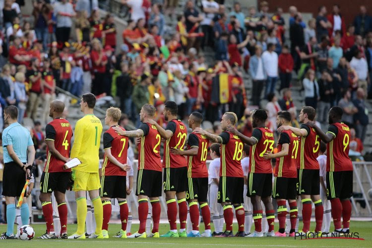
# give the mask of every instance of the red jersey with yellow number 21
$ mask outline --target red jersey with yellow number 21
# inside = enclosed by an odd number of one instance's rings
[[[283,144],[289,144],[288,155],[276,158],[274,176],[278,178],[297,178],[297,151],[299,149],[299,139],[291,130],[285,130],[280,134],[278,141],[278,152],[282,150]]]

